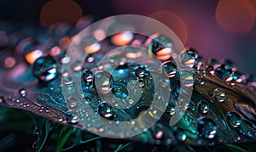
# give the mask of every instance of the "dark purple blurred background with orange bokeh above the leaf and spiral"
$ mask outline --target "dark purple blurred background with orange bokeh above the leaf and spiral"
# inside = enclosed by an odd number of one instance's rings
[[[256,75],[256,0],[0,2],[0,20],[47,26],[56,20],[73,23],[81,15],[88,14],[94,16],[95,20],[116,14],[153,17],[168,25],[185,46],[197,49],[203,57],[231,59],[241,72]]]

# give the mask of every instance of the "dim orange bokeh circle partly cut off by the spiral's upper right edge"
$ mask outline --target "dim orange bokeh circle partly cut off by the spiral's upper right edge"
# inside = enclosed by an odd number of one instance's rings
[[[155,12],[154,14],[150,14],[149,17],[153,18],[154,20],[159,20],[166,26],[168,26],[176,35],[177,37],[183,42],[183,44],[188,39],[188,30],[184,20],[170,11],[161,10]]]

